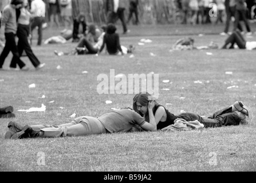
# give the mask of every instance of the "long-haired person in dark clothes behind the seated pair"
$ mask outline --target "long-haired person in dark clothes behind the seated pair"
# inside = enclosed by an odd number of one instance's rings
[[[80,13],[74,19],[73,23],[73,41],[72,42],[79,42],[82,36],[86,35],[87,24],[85,20],[85,14]]]

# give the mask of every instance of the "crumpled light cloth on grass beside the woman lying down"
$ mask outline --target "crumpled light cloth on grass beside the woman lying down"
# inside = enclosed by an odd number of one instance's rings
[[[201,124],[198,120],[195,121],[186,121],[183,119],[176,119],[173,125],[169,125],[166,128],[163,128],[164,132],[174,132],[174,131],[187,131],[192,129],[202,129],[204,125]]]

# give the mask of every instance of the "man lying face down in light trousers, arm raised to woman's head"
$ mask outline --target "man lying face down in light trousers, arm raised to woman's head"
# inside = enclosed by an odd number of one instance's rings
[[[156,122],[153,116],[153,102],[148,103],[149,122],[145,121],[132,109],[120,109],[105,113],[100,117],[81,116],[63,125],[21,126],[14,121],[9,122],[9,131],[5,138],[36,138],[86,136],[89,134],[133,132],[133,128],[155,131]]]

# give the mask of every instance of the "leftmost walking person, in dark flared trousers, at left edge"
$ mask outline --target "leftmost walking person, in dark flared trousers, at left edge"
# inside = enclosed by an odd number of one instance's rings
[[[26,67],[25,63],[19,58],[19,52],[15,42],[15,35],[17,33],[16,9],[19,9],[22,6],[22,3],[22,0],[11,0],[10,4],[3,9],[1,30],[3,29],[5,31],[6,43],[0,55],[0,70],[3,70],[3,63],[10,51],[13,53],[14,57],[14,61],[10,65],[10,69],[15,70],[17,63],[21,70],[29,70],[29,67]]]

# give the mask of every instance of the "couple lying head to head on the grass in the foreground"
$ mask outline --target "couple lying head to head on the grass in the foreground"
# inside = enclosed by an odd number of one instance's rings
[[[100,117],[81,116],[68,124],[21,126],[11,121],[5,138],[36,138],[86,136],[89,134],[156,131],[174,124],[176,119],[198,120],[205,128],[247,124],[249,112],[241,101],[219,110],[208,118],[194,113],[182,113],[178,116],[168,112],[164,106],[157,104],[148,93],[139,93],[133,98],[133,109],[125,108],[105,113]]]

